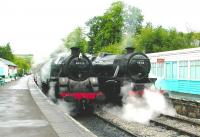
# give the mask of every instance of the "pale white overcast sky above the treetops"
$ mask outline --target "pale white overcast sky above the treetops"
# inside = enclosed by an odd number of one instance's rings
[[[14,53],[45,56],[77,26],[102,15],[116,0],[0,0],[0,45]],[[200,31],[200,0],[124,0],[144,22],[178,31]]]

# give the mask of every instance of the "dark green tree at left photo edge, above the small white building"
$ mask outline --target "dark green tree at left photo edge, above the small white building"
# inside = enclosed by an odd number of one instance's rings
[[[5,46],[0,46],[0,58],[13,61],[14,56],[10,48],[10,43],[7,43]]]

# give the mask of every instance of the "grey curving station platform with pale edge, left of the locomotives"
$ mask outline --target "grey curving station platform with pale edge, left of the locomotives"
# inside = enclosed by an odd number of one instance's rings
[[[26,76],[0,86],[0,137],[94,137]]]

